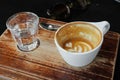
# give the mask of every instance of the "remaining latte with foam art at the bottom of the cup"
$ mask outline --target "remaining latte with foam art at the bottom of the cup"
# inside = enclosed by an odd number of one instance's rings
[[[94,47],[88,40],[78,38],[65,41],[63,48],[70,52],[87,52]]]

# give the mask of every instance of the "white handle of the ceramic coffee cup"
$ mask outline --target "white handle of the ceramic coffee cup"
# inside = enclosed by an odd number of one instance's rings
[[[93,22],[92,24],[97,26],[102,31],[103,35],[105,35],[110,29],[110,24],[108,21]]]

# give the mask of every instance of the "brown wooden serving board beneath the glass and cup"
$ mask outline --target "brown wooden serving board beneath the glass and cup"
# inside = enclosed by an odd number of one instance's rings
[[[65,22],[40,18],[40,21],[63,25]],[[0,36],[0,75],[10,80],[112,80],[117,57],[119,34],[109,31],[95,60],[84,67],[65,63],[54,44],[54,31],[39,29],[40,46],[31,52],[20,51],[6,30]]]

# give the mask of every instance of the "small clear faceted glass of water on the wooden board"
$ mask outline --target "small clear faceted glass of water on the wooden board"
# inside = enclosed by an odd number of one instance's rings
[[[32,51],[39,46],[38,24],[39,17],[32,12],[16,13],[6,22],[7,28],[21,51]]]

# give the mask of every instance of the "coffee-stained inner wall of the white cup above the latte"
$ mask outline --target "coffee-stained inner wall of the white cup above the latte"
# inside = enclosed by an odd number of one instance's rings
[[[55,35],[58,45],[62,48],[65,41],[73,38],[85,39],[95,48],[102,40],[102,33],[96,26],[87,22],[71,22],[59,28]]]

